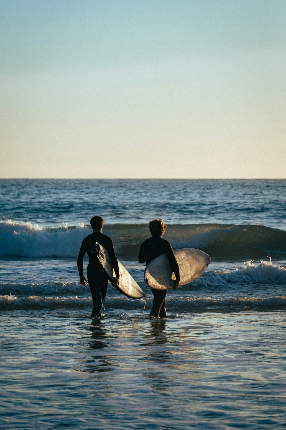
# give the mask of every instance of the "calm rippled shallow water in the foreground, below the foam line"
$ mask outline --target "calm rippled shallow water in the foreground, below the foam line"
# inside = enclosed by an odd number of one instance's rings
[[[2,314],[2,428],[284,427],[284,315]]]

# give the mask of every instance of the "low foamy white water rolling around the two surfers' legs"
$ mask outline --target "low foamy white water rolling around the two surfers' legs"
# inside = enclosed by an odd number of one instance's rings
[[[138,280],[138,283],[145,289],[143,281]],[[285,310],[285,284],[285,267],[271,261],[256,264],[246,261],[242,267],[225,272],[208,269],[192,283],[170,292],[166,300],[171,312]],[[152,302],[149,292],[147,308],[152,306]],[[140,312],[144,299],[126,298],[111,288],[105,303],[110,309]],[[0,283],[0,310],[86,308],[89,312],[91,306],[88,285],[63,282]]]

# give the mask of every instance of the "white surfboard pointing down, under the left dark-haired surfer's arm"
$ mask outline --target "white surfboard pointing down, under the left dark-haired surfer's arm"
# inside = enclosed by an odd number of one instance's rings
[[[95,253],[96,257],[99,260],[99,263],[102,266],[102,269],[108,276],[108,279],[111,283],[114,282],[115,273],[110,261],[109,253],[107,249],[103,248],[99,243],[95,244]],[[115,287],[120,293],[126,295],[131,298],[142,298],[145,296],[145,292],[141,290],[138,286],[137,282],[132,278],[130,273],[125,269],[125,267],[118,261],[119,268],[119,282],[118,286]]]

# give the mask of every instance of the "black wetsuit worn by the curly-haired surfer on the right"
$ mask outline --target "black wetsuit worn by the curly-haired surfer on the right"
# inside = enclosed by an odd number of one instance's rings
[[[179,281],[179,266],[174,255],[172,245],[170,242],[168,242],[168,240],[162,239],[162,237],[158,236],[149,237],[149,239],[146,239],[141,245],[138,260],[139,263],[146,262],[147,265],[150,263],[150,261],[154,260],[154,258],[157,258],[162,254],[167,254],[172,270],[176,276],[177,281]],[[165,298],[168,290],[155,290],[154,288],[151,288],[151,291],[154,295],[154,300],[150,316],[167,316]]]

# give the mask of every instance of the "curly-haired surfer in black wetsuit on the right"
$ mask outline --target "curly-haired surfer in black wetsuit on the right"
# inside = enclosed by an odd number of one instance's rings
[[[163,223],[163,220],[161,218],[155,218],[154,220],[149,222],[148,227],[151,233],[151,237],[146,239],[140,247],[138,257],[139,263],[146,263],[147,265],[150,263],[150,261],[154,260],[154,258],[159,257],[159,255],[167,254],[172,270],[176,276],[174,289],[177,289],[180,285],[179,266],[174,255],[171,243],[168,242],[168,240],[162,239],[162,236],[165,233],[167,226]],[[154,299],[150,316],[160,316],[160,318],[167,316],[166,295],[168,290],[157,290],[151,288],[151,291],[154,295]]]

